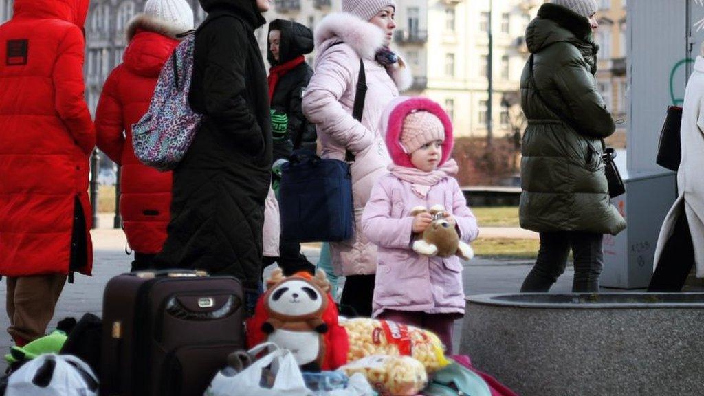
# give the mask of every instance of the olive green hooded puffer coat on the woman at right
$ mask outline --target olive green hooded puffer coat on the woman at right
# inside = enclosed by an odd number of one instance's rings
[[[610,203],[601,160],[602,139],[615,125],[596,89],[598,46],[589,20],[543,4],[526,30],[526,43],[534,54],[535,83],[549,107],[536,94],[527,63],[521,78],[521,106],[529,120],[522,146],[521,227],[616,235],[626,221]]]

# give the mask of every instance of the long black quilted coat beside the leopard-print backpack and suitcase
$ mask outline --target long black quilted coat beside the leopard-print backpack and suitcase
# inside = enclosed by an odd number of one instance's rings
[[[266,72],[254,30],[255,0],[200,0],[189,101],[204,115],[173,173],[168,239],[160,267],[232,275],[245,287],[261,276],[264,202],[272,137]]]

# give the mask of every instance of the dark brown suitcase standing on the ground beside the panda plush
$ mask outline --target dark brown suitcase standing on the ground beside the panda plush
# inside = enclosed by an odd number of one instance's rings
[[[100,394],[203,395],[244,347],[239,280],[188,270],[116,276],[103,295]]]

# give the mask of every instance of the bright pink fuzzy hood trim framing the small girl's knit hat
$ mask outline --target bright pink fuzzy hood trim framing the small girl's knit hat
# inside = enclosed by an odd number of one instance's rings
[[[397,97],[384,109],[379,126],[386,132],[386,148],[389,149],[389,155],[396,165],[414,168],[413,163],[410,162],[410,153],[406,153],[401,146],[401,132],[403,132],[403,120],[415,111],[432,113],[440,118],[445,128],[442,158],[438,163],[438,167],[442,166],[450,159],[455,144],[452,121],[439,104],[425,97]]]

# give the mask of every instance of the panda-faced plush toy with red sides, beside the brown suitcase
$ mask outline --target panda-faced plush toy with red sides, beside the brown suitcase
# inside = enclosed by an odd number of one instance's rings
[[[347,333],[339,326],[329,289],[323,271],[315,277],[301,272],[284,278],[280,269],[275,270],[255,315],[247,322],[250,347],[274,342],[289,349],[303,371],[332,370],[345,364]]]

